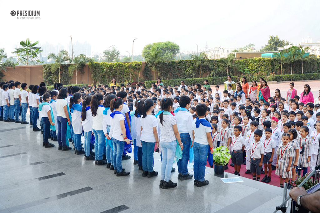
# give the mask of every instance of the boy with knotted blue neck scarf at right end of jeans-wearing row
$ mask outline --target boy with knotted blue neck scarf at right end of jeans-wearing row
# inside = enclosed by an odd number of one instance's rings
[[[205,104],[199,104],[196,107],[196,114],[198,116],[192,122],[192,134],[193,134],[193,150],[194,150],[194,185],[197,187],[206,186],[209,184],[208,180],[204,179],[205,165],[207,164],[207,155],[201,153],[213,153],[213,144],[211,136],[211,125],[204,117],[207,111]]]

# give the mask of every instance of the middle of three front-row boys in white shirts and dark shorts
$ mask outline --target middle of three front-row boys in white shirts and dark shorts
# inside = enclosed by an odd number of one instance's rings
[[[262,136],[261,130],[254,131],[254,142],[251,142],[249,146],[250,150],[250,172],[252,172],[253,180],[260,181],[263,155],[264,155],[264,146],[260,141]]]

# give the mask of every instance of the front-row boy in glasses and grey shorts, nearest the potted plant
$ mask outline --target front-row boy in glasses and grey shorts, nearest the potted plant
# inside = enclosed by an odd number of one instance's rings
[[[235,166],[233,174],[240,176],[241,164],[243,164],[244,138],[241,136],[242,127],[234,127],[234,135],[231,138],[231,162]]]

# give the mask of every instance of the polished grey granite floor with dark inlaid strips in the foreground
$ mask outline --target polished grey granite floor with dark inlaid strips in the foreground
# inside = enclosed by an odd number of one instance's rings
[[[282,202],[279,187],[243,177],[243,182],[225,184],[211,168],[206,168],[208,186],[196,187],[193,179],[180,181],[176,171],[171,180],[178,186],[161,189],[160,176],[141,177],[133,159],[122,162],[131,174],[116,177],[74,151],[58,151],[55,144],[44,148],[42,135],[29,125],[0,122],[0,213],[269,213]],[[154,157],[160,174],[159,153]],[[177,164],[174,167],[177,170]]]

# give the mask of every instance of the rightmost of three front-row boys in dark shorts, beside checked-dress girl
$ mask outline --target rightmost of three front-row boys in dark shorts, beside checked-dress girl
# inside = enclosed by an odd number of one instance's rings
[[[264,130],[264,134],[265,138],[262,140],[262,143],[264,146],[263,164],[265,175],[261,182],[269,183],[271,181],[271,163],[275,152],[276,143],[271,137],[272,130],[270,128],[266,128]]]

